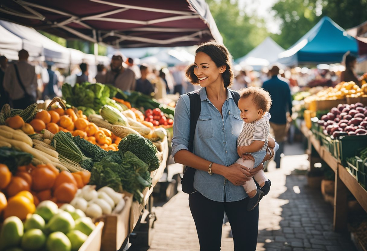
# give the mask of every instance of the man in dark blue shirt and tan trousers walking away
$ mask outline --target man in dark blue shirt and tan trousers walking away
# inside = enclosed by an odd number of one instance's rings
[[[284,152],[284,140],[288,132],[289,123],[287,122],[291,122],[292,97],[288,83],[278,77],[279,67],[274,65],[269,70],[269,74],[270,79],[264,82],[262,88],[268,91],[272,98],[273,105],[269,110],[270,134],[279,143],[279,150],[275,154],[274,161],[276,168],[280,168],[280,155]],[[288,117],[287,111],[290,114]]]

